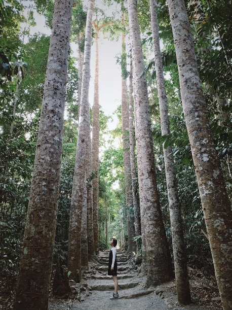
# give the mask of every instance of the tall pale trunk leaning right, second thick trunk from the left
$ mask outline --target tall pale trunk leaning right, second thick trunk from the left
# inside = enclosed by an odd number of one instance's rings
[[[94,0],[89,0],[86,20],[85,51],[83,62],[81,109],[79,118],[79,133],[76,146],[75,168],[72,184],[70,220],[68,231],[68,271],[70,278],[81,281],[81,223],[82,209],[85,200],[87,169],[89,169],[90,152],[90,55],[92,41],[92,18]]]

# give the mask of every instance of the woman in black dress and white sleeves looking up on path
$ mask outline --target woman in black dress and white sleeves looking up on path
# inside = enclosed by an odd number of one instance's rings
[[[109,299],[117,299],[119,298],[118,293],[118,278],[117,278],[117,253],[116,253],[116,246],[118,240],[112,238],[110,240],[111,250],[109,252],[109,264],[108,264],[108,275],[112,275],[113,282],[114,282],[114,292]]]

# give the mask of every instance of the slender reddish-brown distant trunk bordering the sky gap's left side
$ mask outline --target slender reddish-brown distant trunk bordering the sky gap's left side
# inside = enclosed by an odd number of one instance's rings
[[[99,166],[99,51],[98,51],[98,28],[95,27],[96,60],[94,79],[94,103],[93,103],[93,128],[92,128],[92,169],[96,174],[93,179],[93,234],[94,250],[99,254],[99,226],[98,226],[98,166]]]

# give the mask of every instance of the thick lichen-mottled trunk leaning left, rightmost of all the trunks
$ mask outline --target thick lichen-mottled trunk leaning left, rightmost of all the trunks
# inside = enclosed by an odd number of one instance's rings
[[[183,112],[223,309],[232,308],[232,213],[205,109],[184,0],[168,0]]]

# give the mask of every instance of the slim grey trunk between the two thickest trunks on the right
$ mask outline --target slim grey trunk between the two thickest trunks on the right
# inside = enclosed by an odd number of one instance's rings
[[[157,2],[150,0],[151,29],[154,48],[154,62],[156,65],[157,88],[160,105],[161,132],[162,135],[170,134],[168,115],[168,102],[165,90],[163,61],[160,50],[159,26],[157,20]],[[172,231],[172,246],[175,265],[176,289],[179,304],[191,302],[188,282],[187,258],[185,254],[181,210],[176,183],[175,163],[172,156],[172,147],[166,149],[163,145],[165,174],[168,190],[169,212]]]

